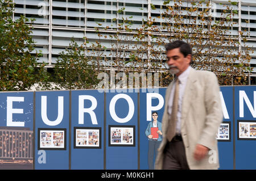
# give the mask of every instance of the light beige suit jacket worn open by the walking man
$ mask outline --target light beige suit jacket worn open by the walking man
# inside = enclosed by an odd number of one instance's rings
[[[171,82],[166,90],[164,115],[162,119],[163,140],[158,149],[155,169],[162,169],[163,150],[167,143],[167,104],[171,94]],[[214,73],[191,69],[185,87],[181,110],[181,136],[189,169],[218,169],[217,129],[223,119],[220,87]],[[210,149],[207,156],[196,161],[193,158],[196,144]]]

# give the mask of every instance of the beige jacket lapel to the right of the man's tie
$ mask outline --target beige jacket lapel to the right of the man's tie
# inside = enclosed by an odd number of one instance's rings
[[[195,69],[191,69],[188,75],[187,83],[184,90],[183,100],[182,100],[182,109],[181,109],[181,128],[184,126],[185,119],[188,114],[188,110],[191,104],[191,97],[194,94],[194,83],[196,82],[195,79]]]

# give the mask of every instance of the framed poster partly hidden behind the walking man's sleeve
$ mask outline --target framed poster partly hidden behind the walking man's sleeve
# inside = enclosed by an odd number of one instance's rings
[[[229,121],[223,121],[218,127],[216,139],[218,141],[231,141],[231,124]]]

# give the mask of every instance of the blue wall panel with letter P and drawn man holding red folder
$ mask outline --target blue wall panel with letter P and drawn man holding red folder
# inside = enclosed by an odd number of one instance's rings
[[[157,90],[157,91],[156,91]],[[140,169],[154,169],[162,142],[162,116],[166,88],[140,92]]]

